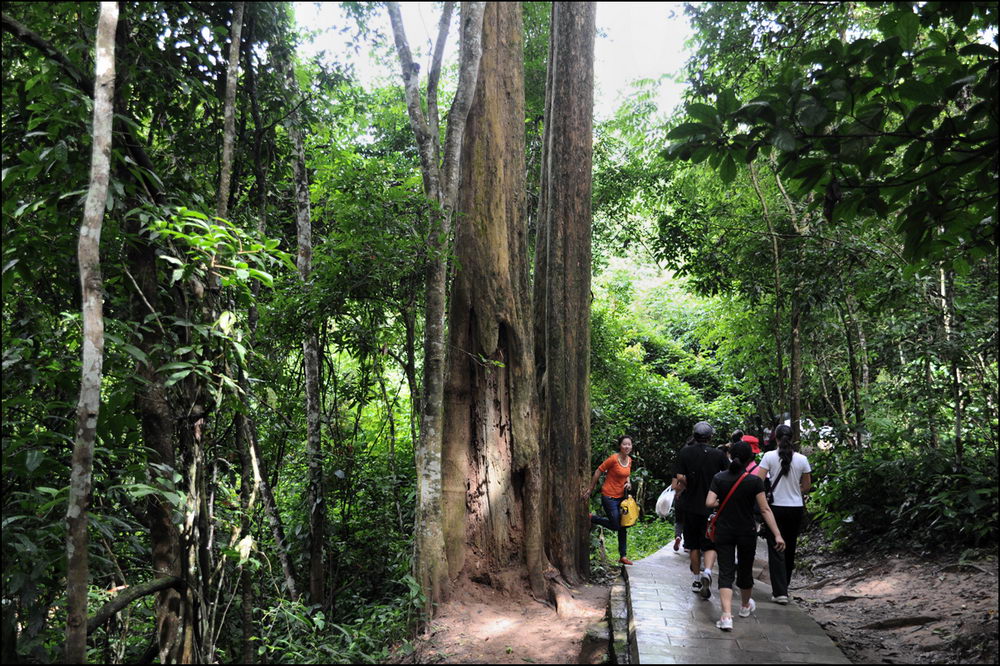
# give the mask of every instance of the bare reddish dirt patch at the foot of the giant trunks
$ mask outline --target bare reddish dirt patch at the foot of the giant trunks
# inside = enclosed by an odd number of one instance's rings
[[[525,586],[526,590],[526,586]],[[579,664],[592,663],[593,644],[584,645],[587,627],[607,610],[609,586],[577,586],[562,616],[525,594],[505,594],[467,582],[438,609],[430,635],[412,642],[413,652],[397,652],[394,663]],[[460,600],[459,600],[460,599]],[[405,650],[404,650],[405,651]]]

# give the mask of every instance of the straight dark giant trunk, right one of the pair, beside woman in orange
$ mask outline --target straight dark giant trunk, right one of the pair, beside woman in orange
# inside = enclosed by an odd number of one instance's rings
[[[549,560],[577,582],[589,570],[587,512],[571,506],[590,466],[594,3],[553,3],[551,26],[534,303],[542,352],[543,531]]]

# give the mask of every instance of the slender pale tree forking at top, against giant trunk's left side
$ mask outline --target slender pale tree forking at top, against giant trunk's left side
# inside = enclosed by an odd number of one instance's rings
[[[437,86],[441,57],[448,34],[454,3],[447,2],[438,29],[434,60],[427,81],[427,114],[420,101],[419,65],[413,61],[403,30],[399,4],[388,4],[396,51],[402,67],[406,108],[410,127],[420,151],[424,193],[436,207],[431,214],[427,239],[424,323],[424,373],[421,396],[420,441],[415,447],[417,468],[417,512],[413,533],[414,575],[427,599],[428,610],[447,595],[448,563],[444,552],[441,504],[441,449],[444,419],[445,304],[447,296],[448,253],[451,240],[452,212],[458,191],[459,158],[465,123],[479,76],[482,56],[483,11],[485,3],[463,2],[459,33],[458,88],[448,113],[442,155],[438,141]],[[443,158],[443,159],[442,159]],[[429,614],[429,613],[428,613]]]

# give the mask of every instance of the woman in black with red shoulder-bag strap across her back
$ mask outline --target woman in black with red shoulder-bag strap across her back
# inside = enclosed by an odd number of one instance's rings
[[[754,506],[760,508],[764,522],[773,534],[775,548],[785,542],[774,520],[764,494],[764,481],[747,470],[753,451],[746,442],[737,441],[729,447],[733,460],[729,469],[719,472],[705,498],[705,506],[717,509],[715,550],[719,557],[719,605],[722,616],[715,623],[723,631],[733,629],[733,581],[740,588],[740,617],[749,617],[757,605],[753,592],[753,557],[757,549],[757,524]],[[726,498],[720,506],[721,498]]]

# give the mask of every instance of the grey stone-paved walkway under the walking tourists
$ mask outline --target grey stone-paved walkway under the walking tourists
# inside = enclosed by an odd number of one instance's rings
[[[758,541],[754,578],[766,567],[767,548]],[[849,664],[840,648],[793,601],[771,601],[771,587],[754,580],[757,611],[736,616],[739,591],[733,597],[733,630],[716,628],[719,619],[718,567],[712,597],[691,592],[688,555],[672,545],[625,567],[635,641],[640,664]]]

